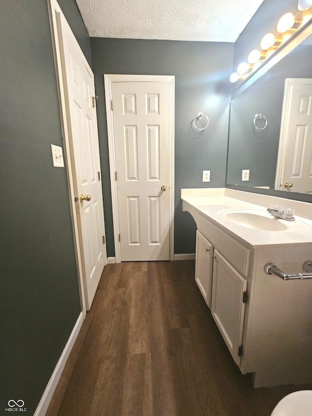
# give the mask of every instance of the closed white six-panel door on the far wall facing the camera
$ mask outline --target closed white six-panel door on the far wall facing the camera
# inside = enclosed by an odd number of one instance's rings
[[[168,260],[168,82],[113,82],[121,261]]]

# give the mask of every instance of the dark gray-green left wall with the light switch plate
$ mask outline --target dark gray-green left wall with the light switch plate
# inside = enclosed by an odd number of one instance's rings
[[[75,0],[60,6],[91,63]],[[32,415],[80,313],[46,0],[0,1],[1,389]]]

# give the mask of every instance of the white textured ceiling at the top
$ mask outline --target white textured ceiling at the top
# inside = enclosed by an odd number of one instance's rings
[[[76,0],[91,37],[235,42],[263,0]]]

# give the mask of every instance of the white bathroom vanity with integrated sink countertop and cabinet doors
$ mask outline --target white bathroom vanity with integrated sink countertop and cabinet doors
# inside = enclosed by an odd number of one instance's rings
[[[197,225],[196,283],[242,374],[254,387],[312,382],[312,205],[227,188],[181,199]],[[270,215],[276,205],[295,220]],[[268,263],[301,278],[268,275]]]

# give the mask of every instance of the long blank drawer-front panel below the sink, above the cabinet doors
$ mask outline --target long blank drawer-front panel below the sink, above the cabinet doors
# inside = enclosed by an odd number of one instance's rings
[[[240,273],[248,276],[250,260],[250,250],[248,248],[228,236],[201,215],[197,217],[197,228]]]

